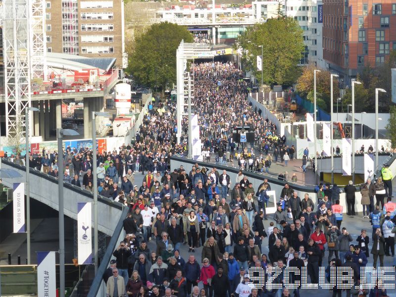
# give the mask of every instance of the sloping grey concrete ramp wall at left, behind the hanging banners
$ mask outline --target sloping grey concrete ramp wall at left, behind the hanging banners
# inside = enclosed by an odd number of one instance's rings
[[[20,183],[26,180],[25,167],[15,165],[8,161],[2,162],[2,169],[14,169],[22,178],[15,180],[2,179],[2,183],[12,189],[12,183]],[[26,189],[25,189],[26,191]],[[93,194],[71,184],[64,184],[64,214],[77,220],[77,202],[93,202]],[[37,170],[30,171],[30,197],[47,204],[55,210],[59,210],[58,183],[55,178]],[[121,217],[123,206],[112,199],[99,197],[98,217],[99,231],[109,236],[113,235],[114,229]]]

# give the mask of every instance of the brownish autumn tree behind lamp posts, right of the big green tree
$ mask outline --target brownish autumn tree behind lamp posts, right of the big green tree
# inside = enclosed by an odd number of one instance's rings
[[[314,101],[313,88],[314,78],[313,71],[317,69],[314,65],[308,65],[303,68],[301,76],[297,80],[297,92],[301,98],[306,98],[311,102]],[[325,111],[330,111],[330,75],[329,71],[321,70],[316,73],[316,104]],[[333,79],[333,104],[337,104],[340,90],[337,78]]]

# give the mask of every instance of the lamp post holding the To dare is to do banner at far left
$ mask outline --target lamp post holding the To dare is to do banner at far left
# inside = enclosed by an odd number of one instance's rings
[[[29,111],[40,111],[40,109],[36,107],[26,107],[25,109],[26,242],[27,242],[28,265],[30,265]]]

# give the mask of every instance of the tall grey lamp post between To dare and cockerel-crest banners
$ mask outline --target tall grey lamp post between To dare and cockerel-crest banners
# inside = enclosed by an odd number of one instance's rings
[[[58,197],[59,197],[59,295],[65,293],[65,222],[63,209],[63,135],[79,135],[71,129],[56,129],[58,142]]]

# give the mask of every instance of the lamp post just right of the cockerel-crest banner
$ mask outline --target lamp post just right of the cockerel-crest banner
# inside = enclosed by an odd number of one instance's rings
[[[98,175],[97,175],[97,150],[96,150],[96,117],[109,116],[108,112],[93,111],[92,112],[92,174],[94,184],[94,259],[95,274],[98,272]]]

